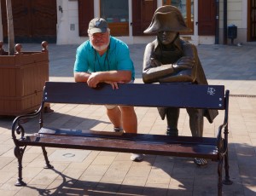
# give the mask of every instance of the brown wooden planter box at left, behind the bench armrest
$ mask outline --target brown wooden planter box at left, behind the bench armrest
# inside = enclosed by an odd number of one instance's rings
[[[49,81],[49,53],[0,55],[0,115],[18,116],[40,106]]]

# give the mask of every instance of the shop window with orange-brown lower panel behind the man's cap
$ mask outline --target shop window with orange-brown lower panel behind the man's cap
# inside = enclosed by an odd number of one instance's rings
[[[129,35],[128,0],[101,0],[101,17],[108,21],[111,35]]]

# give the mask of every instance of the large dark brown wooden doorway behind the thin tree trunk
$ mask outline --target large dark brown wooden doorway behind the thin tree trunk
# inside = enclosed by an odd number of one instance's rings
[[[3,42],[8,42],[5,0],[1,0]],[[56,43],[56,1],[12,0],[15,43]]]

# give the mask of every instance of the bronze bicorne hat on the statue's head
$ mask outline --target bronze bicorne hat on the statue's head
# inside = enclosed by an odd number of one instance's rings
[[[144,33],[156,32],[191,32],[184,20],[183,15],[172,5],[162,6],[154,12],[151,24]]]

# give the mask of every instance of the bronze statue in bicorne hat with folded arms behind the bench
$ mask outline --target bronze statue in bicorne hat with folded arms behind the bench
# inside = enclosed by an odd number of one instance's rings
[[[148,43],[143,59],[144,83],[207,84],[195,45],[183,41],[179,32],[189,32],[180,11],[171,5],[157,9],[144,33],[156,33],[157,38]],[[167,120],[167,135],[178,135],[179,108],[160,107],[160,117]],[[193,136],[203,135],[203,117],[212,123],[216,110],[187,108],[189,126]],[[195,159],[195,164],[207,164],[206,159]]]

